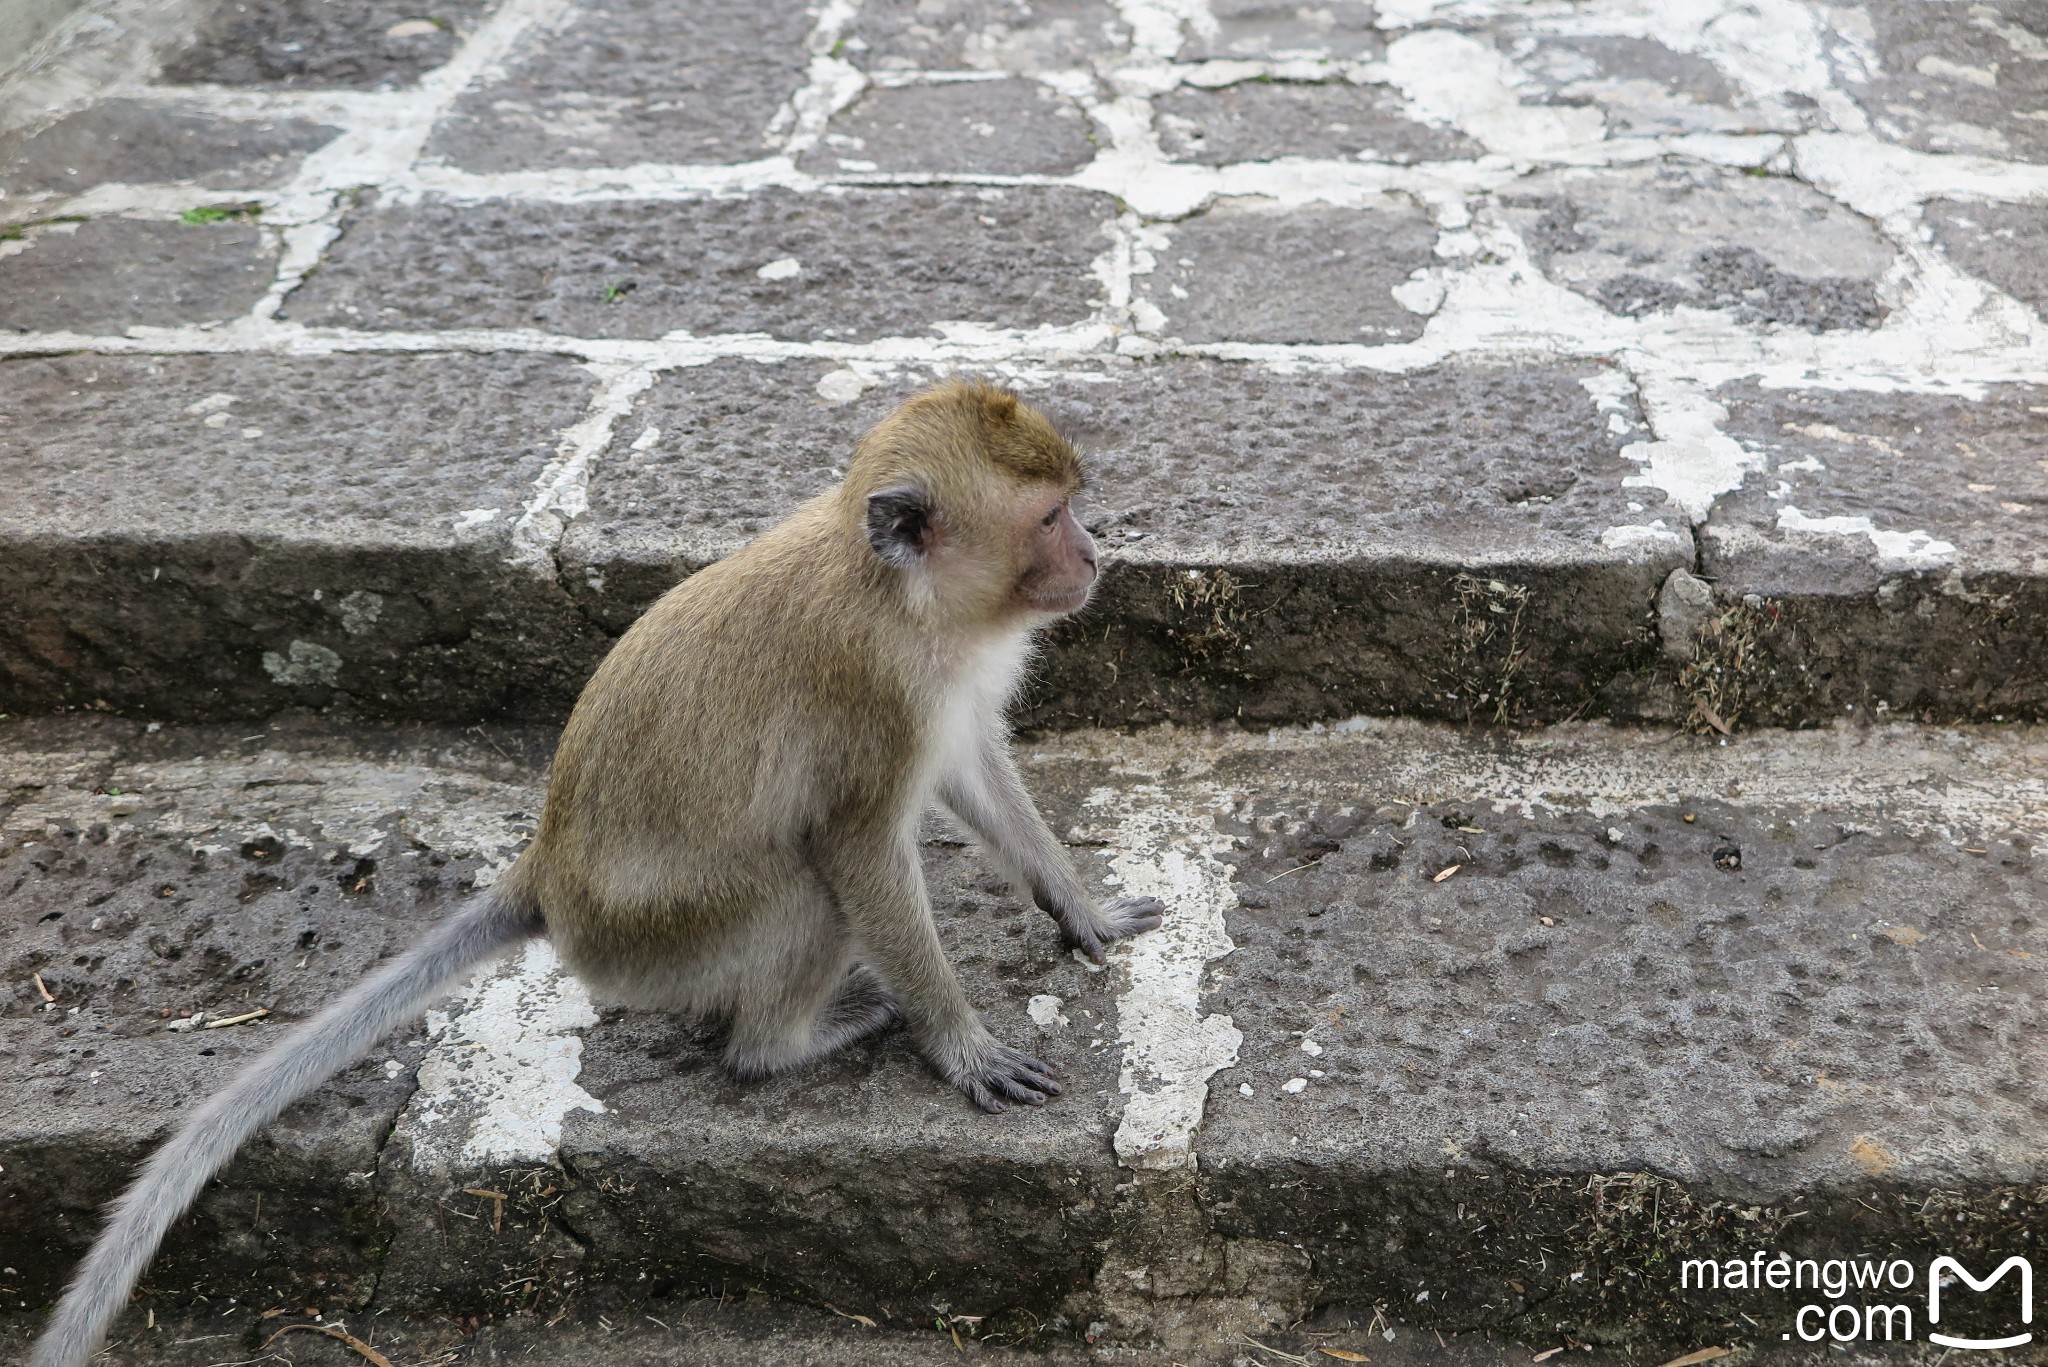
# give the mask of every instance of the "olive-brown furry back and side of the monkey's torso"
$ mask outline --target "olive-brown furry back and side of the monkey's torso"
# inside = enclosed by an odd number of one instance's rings
[[[870,557],[829,500],[670,588],[563,728],[541,830],[508,877],[594,986],[623,963],[702,957],[764,904],[815,894],[809,834],[911,781],[913,682],[877,674],[889,652],[862,633],[887,623],[850,611],[846,582]],[[821,730],[829,746],[807,740]]]

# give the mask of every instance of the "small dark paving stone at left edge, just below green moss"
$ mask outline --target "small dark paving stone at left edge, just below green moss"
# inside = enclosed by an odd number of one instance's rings
[[[270,287],[276,246],[254,223],[49,223],[0,256],[0,328],[109,332],[227,322]]]

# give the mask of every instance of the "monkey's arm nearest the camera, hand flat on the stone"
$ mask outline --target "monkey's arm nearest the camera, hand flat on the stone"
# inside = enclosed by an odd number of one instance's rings
[[[932,924],[915,836],[842,830],[817,851],[817,869],[946,1082],[983,1111],[1059,1096],[1053,1070],[999,1043],[969,1006]]]

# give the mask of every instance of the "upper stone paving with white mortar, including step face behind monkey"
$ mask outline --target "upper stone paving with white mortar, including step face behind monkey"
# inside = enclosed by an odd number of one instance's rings
[[[559,719],[961,369],[1040,726],[2048,709],[2025,0],[92,0],[0,187],[4,709]]]

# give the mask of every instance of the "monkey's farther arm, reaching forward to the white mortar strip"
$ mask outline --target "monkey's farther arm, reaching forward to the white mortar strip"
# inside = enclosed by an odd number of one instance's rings
[[[1102,963],[1106,945],[1151,930],[1163,918],[1165,908],[1157,898],[1116,898],[1096,906],[1081,887],[1059,836],[1024,791],[1024,779],[1004,736],[983,736],[969,762],[940,785],[938,799],[981,836],[999,863],[1008,865],[1012,881],[1030,892],[1032,902],[1059,922],[1067,945],[1096,963]]]

